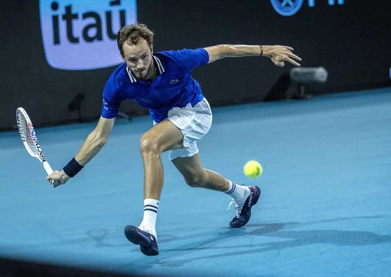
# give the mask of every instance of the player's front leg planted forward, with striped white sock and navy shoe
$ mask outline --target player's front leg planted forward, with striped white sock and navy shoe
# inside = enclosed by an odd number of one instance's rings
[[[164,120],[147,131],[140,141],[144,164],[144,217],[141,224],[125,226],[126,238],[140,245],[142,253],[158,255],[156,243],[156,216],[161,189],[163,187],[163,167],[160,155],[166,150],[182,146],[183,134],[171,121]]]

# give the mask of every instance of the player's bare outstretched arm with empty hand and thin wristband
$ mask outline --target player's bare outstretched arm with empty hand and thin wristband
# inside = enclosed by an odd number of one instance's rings
[[[269,57],[275,65],[284,66],[284,61],[300,66],[296,61],[302,59],[292,53],[294,50],[289,46],[281,45],[230,45],[220,44],[204,48],[209,54],[209,62],[214,62],[222,58],[235,58],[246,56]],[[296,59],[296,60],[295,60]]]

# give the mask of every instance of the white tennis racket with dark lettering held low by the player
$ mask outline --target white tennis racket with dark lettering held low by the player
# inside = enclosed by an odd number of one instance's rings
[[[42,148],[38,142],[38,137],[34,126],[32,126],[30,118],[28,117],[26,111],[21,107],[16,109],[16,123],[18,124],[20,137],[22,138],[23,144],[26,147],[28,154],[39,159],[44,166],[46,173],[50,175],[53,172],[53,169],[50,167],[50,164],[42,152]],[[59,182],[54,181],[52,182],[52,185],[58,186]]]

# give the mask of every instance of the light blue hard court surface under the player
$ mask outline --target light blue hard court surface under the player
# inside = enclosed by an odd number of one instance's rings
[[[262,189],[245,227],[229,228],[230,197],[186,186],[164,153],[160,254],[126,240],[124,226],[143,216],[149,116],[118,119],[104,149],[56,189],[10,131],[0,133],[0,256],[148,276],[391,276],[391,88],[213,112],[204,167]],[[37,128],[53,169],[95,124]],[[250,159],[264,167],[257,179],[243,174]]]

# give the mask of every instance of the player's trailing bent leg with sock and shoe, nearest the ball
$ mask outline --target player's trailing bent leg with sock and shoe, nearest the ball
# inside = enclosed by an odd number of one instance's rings
[[[256,204],[260,196],[258,187],[240,186],[215,171],[204,169],[199,154],[191,157],[178,157],[172,162],[189,186],[222,191],[232,197],[236,217],[230,222],[231,227],[238,228],[247,224],[251,217],[251,207]]]

